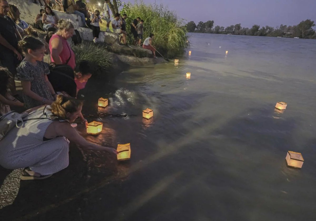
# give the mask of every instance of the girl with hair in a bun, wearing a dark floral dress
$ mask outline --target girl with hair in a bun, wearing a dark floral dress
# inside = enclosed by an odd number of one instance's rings
[[[57,94],[47,78],[50,73],[49,65],[43,62],[45,44],[40,39],[26,36],[19,42],[19,46],[25,53],[24,60],[17,68],[17,76],[23,87],[25,107],[51,105]]]

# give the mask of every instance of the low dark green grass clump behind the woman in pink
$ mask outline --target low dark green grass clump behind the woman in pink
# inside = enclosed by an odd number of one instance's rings
[[[72,50],[75,52],[76,62],[89,61],[95,74],[100,74],[112,66],[112,57],[103,45],[93,42],[82,42],[80,45],[73,45]]]

